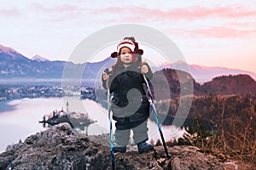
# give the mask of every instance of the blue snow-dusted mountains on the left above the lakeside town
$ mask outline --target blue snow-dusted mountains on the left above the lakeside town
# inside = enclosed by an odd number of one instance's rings
[[[86,71],[84,65],[86,64]],[[50,61],[36,55],[32,59],[26,58],[13,48],[0,45],[0,78],[40,78],[61,79],[66,68],[69,75],[77,75],[78,71],[84,70],[85,78],[94,78],[95,72],[99,71],[101,63],[74,64],[61,60]],[[92,74],[89,74],[92,73]]]

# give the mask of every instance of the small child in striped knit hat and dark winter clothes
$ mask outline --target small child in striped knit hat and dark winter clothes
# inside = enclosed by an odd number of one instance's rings
[[[149,102],[143,90],[143,75],[149,80],[153,73],[148,64],[141,61],[142,54],[143,50],[138,48],[134,37],[125,37],[117,46],[117,52],[111,55],[118,58],[112,71],[102,75],[103,87],[106,88],[109,83],[110,93],[113,94],[111,109],[113,120],[116,121],[115,152],[126,151],[131,129],[139,153],[154,149],[151,144],[146,143]]]

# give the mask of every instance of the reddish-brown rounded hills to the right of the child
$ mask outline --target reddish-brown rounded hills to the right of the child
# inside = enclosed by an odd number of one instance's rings
[[[154,86],[155,99],[177,99],[180,93],[193,93],[195,96],[209,95],[242,95],[256,92],[256,82],[249,75],[229,75],[214,77],[212,81],[202,85],[195,82],[195,79],[185,71],[174,69],[163,69],[155,71],[154,77],[150,80]],[[191,87],[193,85],[193,87]],[[169,88],[169,89],[168,89]],[[193,88],[193,92],[188,90]]]

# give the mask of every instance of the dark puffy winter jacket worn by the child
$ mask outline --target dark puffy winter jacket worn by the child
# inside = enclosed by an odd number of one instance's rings
[[[146,63],[144,65],[148,66]],[[153,77],[149,66],[145,77],[148,80]],[[126,68],[123,65],[116,65],[111,71],[109,83],[110,93],[113,94],[113,120],[125,122],[128,118],[130,122],[144,122],[148,119],[149,102],[143,90],[145,81],[138,65]],[[106,88],[106,81],[102,80],[102,85]],[[128,92],[130,95],[127,97]]]

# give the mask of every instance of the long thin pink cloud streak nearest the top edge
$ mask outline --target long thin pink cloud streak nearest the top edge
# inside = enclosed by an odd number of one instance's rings
[[[142,16],[143,20],[195,20],[205,19],[208,17],[221,18],[242,18],[255,16],[256,11],[245,7],[190,7],[190,8],[173,8],[170,10],[161,10],[157,8],[144,8],[131,6],[127,8],[103,8],[102,13],[119,14],[120,16],[130,15]],[[98,11],[98,12],[100,12]]]

